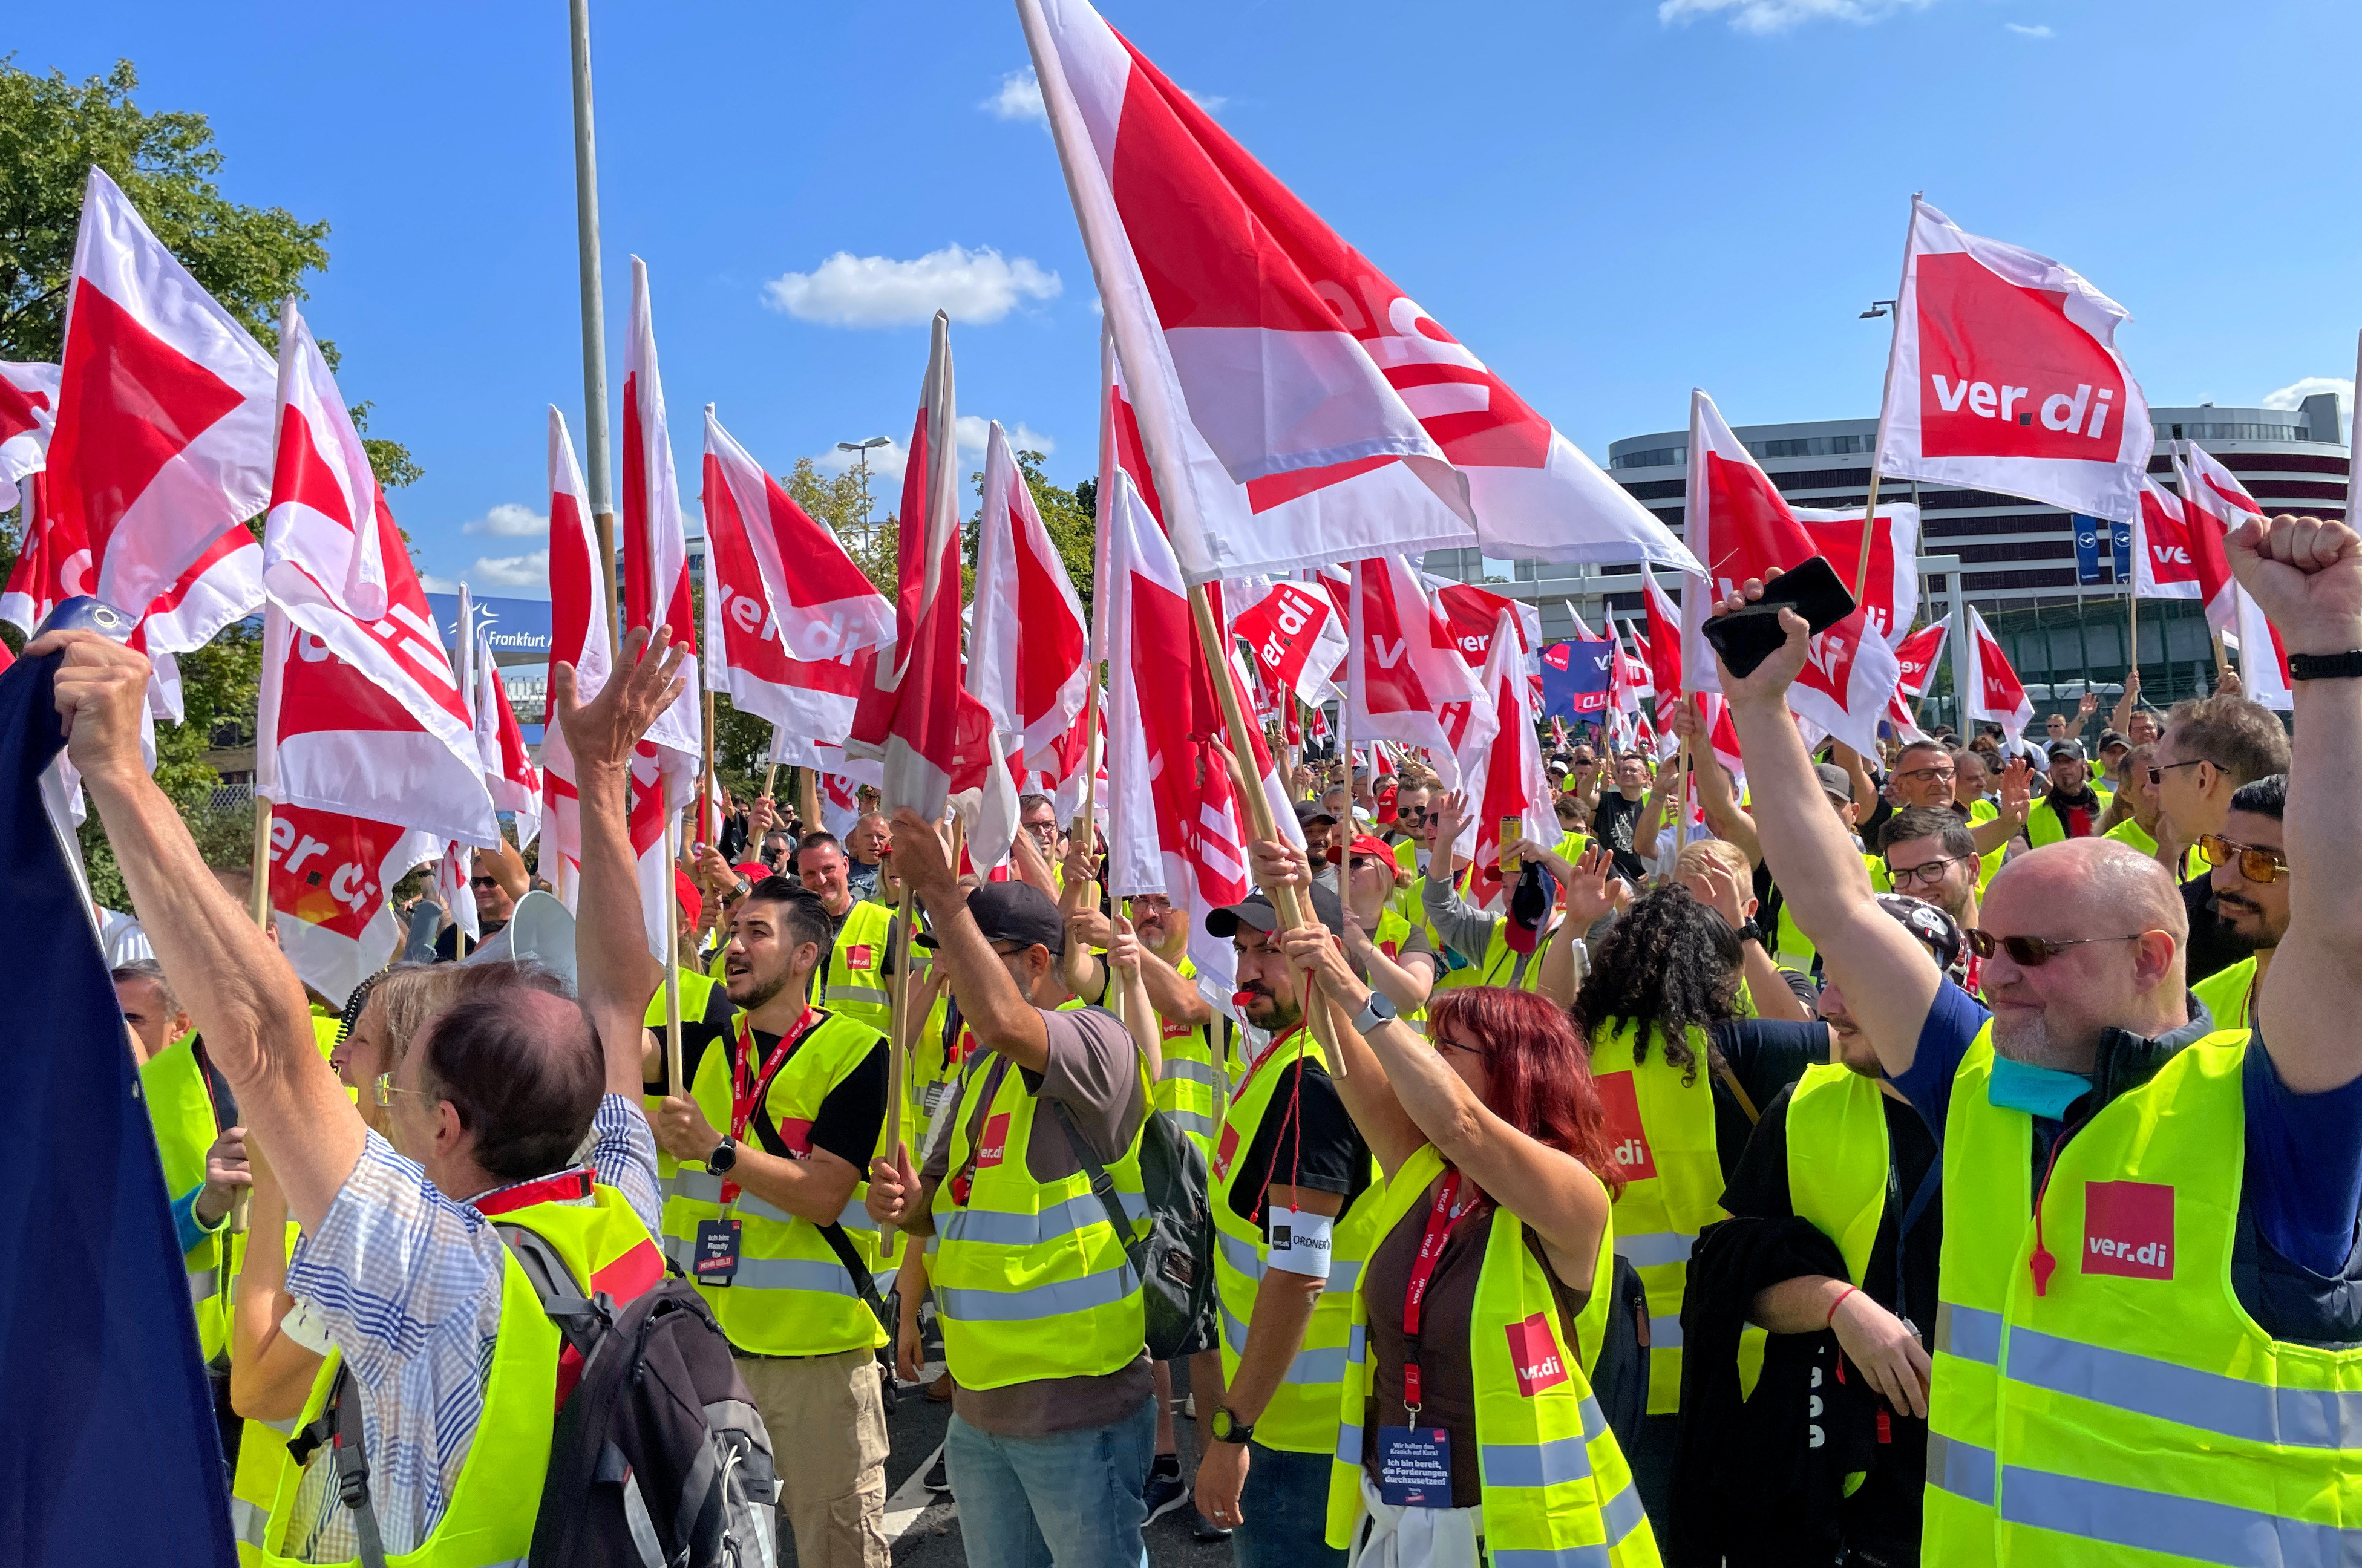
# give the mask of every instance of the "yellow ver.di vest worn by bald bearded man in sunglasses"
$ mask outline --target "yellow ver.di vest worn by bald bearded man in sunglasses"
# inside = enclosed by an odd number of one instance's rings
[[[2031,1117],[1986,1096],[1991,1025],[1960,1063],[1927,1563],[2353,1561],[2362,1351],[2270,1339],[2232,1294],[2246,1051],[2206,1034],[2105,1105],[2038,1211]]]

